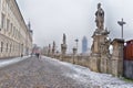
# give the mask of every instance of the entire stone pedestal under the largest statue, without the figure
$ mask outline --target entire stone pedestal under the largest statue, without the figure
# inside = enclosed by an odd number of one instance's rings
[[[92,44],[92,54],[91,54],[91,62],[94,64],[96,68],[93,67],[92,69],[106,73],[108,70],[108,59],[109,59],[109,46],[110,41],[108,40],[108,32],[106,30],[95,30],[93,34],[93,44]]]

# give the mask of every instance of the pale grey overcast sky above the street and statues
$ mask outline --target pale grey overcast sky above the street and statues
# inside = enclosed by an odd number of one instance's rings
[[[55,41],[58,48],[66,34],[69,51],[75,45],[74,40],[81,41],[85,35],[91,47],[91,35],[95,30],[96,4],[102,3],[105,12],[105,26],[111,31],[110,37],[121,37],[117,21],[122,18],[124,38],[133,36],[133,0],[17,0],[25,22],[31,21],[33,42],[47,46]]]

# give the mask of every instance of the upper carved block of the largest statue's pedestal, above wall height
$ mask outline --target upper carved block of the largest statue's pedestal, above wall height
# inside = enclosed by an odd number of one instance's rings
[[[109,42],[109,34],[110,32],[108,30],[95,30],[94,34],[92,35],[93,44],[91,51],[93,54],[105,54],[108,52],[105,46]]]

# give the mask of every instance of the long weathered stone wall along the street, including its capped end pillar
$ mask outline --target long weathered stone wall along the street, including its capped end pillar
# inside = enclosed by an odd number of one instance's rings
[[[113,54],[91,54],[83,55],[54,55],[63,62],[89,67],[96,73],[112,74],[113,76],[123,76],[123,46],[124,40],[115,38],[111,43],[113,45]],[[126,63],[125,63],[126,64]]]

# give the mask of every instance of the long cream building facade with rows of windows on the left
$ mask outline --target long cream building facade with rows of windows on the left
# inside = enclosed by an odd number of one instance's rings
[[[0,0],[0,58],[28,55],[32,50],[31,30],[16,0]]]

